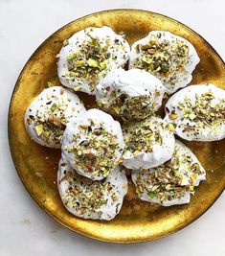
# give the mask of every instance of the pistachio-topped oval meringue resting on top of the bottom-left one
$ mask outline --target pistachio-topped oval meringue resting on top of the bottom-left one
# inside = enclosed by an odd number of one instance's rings
[[[62,152],[70,165],[91,179],[101,180],[120,163],[124,137],[119,122],[99,109],[89,109],[68,124]]]

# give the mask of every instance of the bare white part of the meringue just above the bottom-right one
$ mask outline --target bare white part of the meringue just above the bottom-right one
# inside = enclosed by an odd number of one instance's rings
[[[152,145],[152,151],[144,151],[143,149],[138,151],[137,153],[133,153],[127,148],[124,149],[124,167],[128,169],[140,169],[140,168],[152,168],[159,166],[166,161],[168,161],[173,153],[175,138],[173,132],[169,131],[167,128],[168,123],[162,120],[159,117],[150,117],[146,121],[139,122],[138,124],[129,125],[128,130],[131,132],[136,128],[142,128],[145,123],[148,122],[150,124],[150,130],[155,132],[159,132],[162,142],[159,143],[155,140],[155,137],[151,139],[150,142]],[[124,141],[126,142],[127,132],[125,132],[124,128]],[[142,138],[146,138],[146,135],[143,134]],[[142,139],[141,138],[141,139]],[[132,137],[131,137],[132,139]],[[130,140],[129,140],[130,141]]]

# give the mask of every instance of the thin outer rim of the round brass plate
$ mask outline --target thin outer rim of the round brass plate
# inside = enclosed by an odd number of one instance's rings
[[[184,23],[171,18],[165,14],[162,13],[158,13],[158,12],[150,12],[150,11],[146,11],[146,10],[142,10],[142,9],[112,9],[112,10],[105,10],[105,11],[101,11],[101,12],[92,12],[89,13],[87,15],[81,16],[75,20],[70,21],[69,23],[65,24],[64,26],[62,26],[61,28],[59,28],[58,30],[56,30],[52,35],[48,36],[35,50],[34,53],[31,55],[31,57],[26,61],[26,63],[24,64],[21,72],[19,73],[19,76],[17,78],[17,80],[15,81],[13,90],[11,92],[11,100],[10,100],[10,105],[9,105],[9,111],[8,111],[8,140],[9,140],[9,146],[10,146],[10,151],[11,151],[11,159],[14,165],[14,168],[16,170],[17,175],[20,178],[20,181],[22,182],[23,186],[25,187],[26,191],[29,193],[29,195],[34,199],[35,203],[37,203],[37,205],[48,215],[50,216],[53,220],[55,220],[56,222],[58,222],[59,224],[61,224],[62,226],[66,227],[67,229],[83,236],[89,239],[93,239],[95,241],[100,241],[103,243],[110,243],[110,244],[139,244],[139,243],[146,243],[146,242],[150,242],[150,241],[155,241],[155,240],[159,240],[165,237],[168,237],[169,235],[172,235],[182,229],[184,229],[186,226],[190,225],[191,223],[193,223],[194,221],[198,220],[202,215],[204,215],[214,204],[214,202],[221,196],[221,194],[223,193],[223,191],[225,190],[225,186],[223,186],[223,188],[221,189],[221,191],[218,193],[217,197],[214,198],[214,200],[211,201],[211,203],[208,205],[208,207],[198,216],[196,216],[195,218],[193,218],[191,221],[187,221],[186,223],[184,223],[183,225],[175,228],[172,231],[169,231],[167,234],[161,234],[158,235],[156,237],[151,237],[151,238],[146,238],[146,239],[138,239],[138,240],[110,240],[110,239],[101,239],[99,237],[96,237],[94,235],[91,235],[90,233],[86,233],[80,230],[75,230],[73,229],[71,226],[69,226],[66,222],[61,221],[56,215],[54,215],[50,210],[48,210],[46,207],[43,207],[40,203],[40,201],[38,200],[38,198],[35,198],[34,193],[31,191],[31,189],[29,188],[28,184],[26,183],[26,179],[22,177],[16,159],[15,159],[15,155],[14,155],[14,151],[12,150],[12,141],[11,141],[11,107],[12,107],[12,103],[13,103],[13,99],[14,99],[14,95],[18,89],[18,85],[19,85],[19,81],[21,81],[22,75],[24,73],[24,71],[26,70],[26,67],[29,65],[31,59],[35,56],[35,54],[39,51],[39,49],[41,49],[46,42],[49,41],[50,38],[52,38],[54,35],[56,35],[58,32],[60,32],[61,30],[63,30],[64,28],[68,27],[70,24],[79,22],[82,19],[88,18],[90,16],[93,15],[101,15],[103,13],[106,12],[140,12],[140,13],[146,13],[146,14],[153,14],[156,16],[161,16],[161,17],[165,17],[167,19],[169,19],[172,22],[175,22],[179,25],[182,25],[183,27],[185,27],[189,32],[191,32],[191,34],[197,35],[200,39],[202,39],[204,41],[204,43],[206,43],[208,46],[211,47],[211,49],[214,52],[214,55],[216,56],[216,58],[218,58],[218,60],[222,63],[223,66],[225,66],[225,61],[218,55],[218,53],[215,51],[214,47],[201,35],[199,35],[198,33],[196,33],[195,31],[193,31],[189,26],[185,25]]]

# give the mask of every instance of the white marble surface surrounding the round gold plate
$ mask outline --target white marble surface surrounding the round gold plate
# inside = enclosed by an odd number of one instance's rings
[[[105,244],[53,221],[30,198],[15,173],[7,115],[14,82],[26,60],[64,24],[90,12],[116,8],[169,15],[204,36],[225,59],[224,0],[0,0],[1,256],[225,255],[224,193],[199,220],[168,238],[145,244]]]

